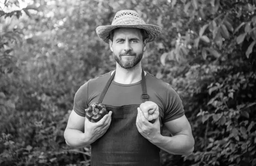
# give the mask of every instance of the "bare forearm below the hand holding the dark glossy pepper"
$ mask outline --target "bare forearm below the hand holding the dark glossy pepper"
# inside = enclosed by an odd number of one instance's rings
[[[86,133],[76,129],[66,129],[64,132],[64,138],[67,145],[73,148],[83,148],[95,141],[90,139]]]

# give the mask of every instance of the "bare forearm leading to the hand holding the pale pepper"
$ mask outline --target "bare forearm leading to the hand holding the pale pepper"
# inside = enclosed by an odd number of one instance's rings
[[[194,138],[187,135],[175,135],[167,137],[160,135],[154,142],[154,145],[173,155],[191,155],[194,151]]]

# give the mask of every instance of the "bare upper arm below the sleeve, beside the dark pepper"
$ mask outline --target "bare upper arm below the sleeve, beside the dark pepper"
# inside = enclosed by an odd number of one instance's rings
[[[67,129],[77,129],[84,132],[84,120],[85,117],[76,114],[76,112],[72,110],[67,121]]]

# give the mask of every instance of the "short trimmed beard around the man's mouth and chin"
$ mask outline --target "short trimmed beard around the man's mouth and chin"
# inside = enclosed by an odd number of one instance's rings
[[[123,61],[122,60],[122,55],[123,54],[119,54],[119,55],[116,55],[113,53],[113,57],[114,59],[116,60],[116,62],[124,69],[131,69],[133,68],[134,66],[136,66],[140,60],[142,60],[142,57],[143,57],[143,52],[140,53],[140,54],[134,54],[133,56],[135,56],[134,60],[131,60],[131,61]]]

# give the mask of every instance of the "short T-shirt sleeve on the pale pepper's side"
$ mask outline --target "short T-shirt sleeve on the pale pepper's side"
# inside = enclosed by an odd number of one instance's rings
[[[177,92],[170,86],[169,83],[166,85],[165,92],[165,112],[163,122],[175,120],[184,115],[184,108],[182,100]]]

